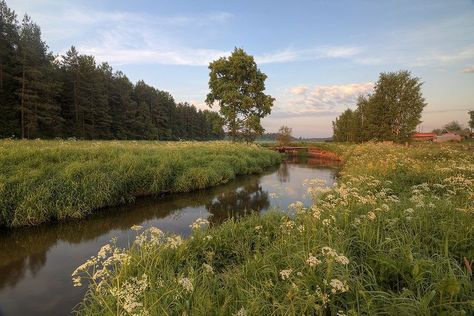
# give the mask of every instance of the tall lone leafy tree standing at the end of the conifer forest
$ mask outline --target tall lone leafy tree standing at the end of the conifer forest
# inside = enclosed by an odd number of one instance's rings
[[[254,58],[235,48],[229,57],[211,62],[209,69],[206,103],[219,105],[232,140],[253,141],[263,134],[260,120],[270,114],[274,98],[264,93],[267,76]]]

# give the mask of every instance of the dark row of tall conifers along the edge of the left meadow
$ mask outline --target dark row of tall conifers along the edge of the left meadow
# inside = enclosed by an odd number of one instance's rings
[[[210,140],[224,137],[218,113],[176,103],[130,82],[74,46],[55,56],[27,15],[0,0],[0,138]]]

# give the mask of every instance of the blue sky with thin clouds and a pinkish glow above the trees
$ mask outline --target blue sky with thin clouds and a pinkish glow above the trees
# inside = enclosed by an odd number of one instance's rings
[[[381,72],[424,82],[424,132],[474,110],[474,0],[7,0],[39,24],[55,54],[71,45],[208,108],[210,61],[253,55],[276,100],[263,120],[297,137],[328,137],[332,121],[370,93]]]

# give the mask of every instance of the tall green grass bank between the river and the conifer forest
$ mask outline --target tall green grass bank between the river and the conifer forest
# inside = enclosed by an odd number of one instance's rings
[[[202,189],[280,156],[228,142],[0,141],[0,226],[81,218],[139,195]]]

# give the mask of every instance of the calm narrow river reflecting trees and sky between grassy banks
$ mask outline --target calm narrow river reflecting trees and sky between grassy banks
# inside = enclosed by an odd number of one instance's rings
[[[251,210],[284,210],[295,201],[309,205],[304,180],[332,185],[336,173],[337,164],[321,160],[287,161],[260,175],[192,193],[140,198],[80,221],[0,231],[0,316],[70,314],[85,291],[73,287],[72,271],[112,237],[120,246],[133,241],[132,225],[186,236],[199,217],[219,223]]]

